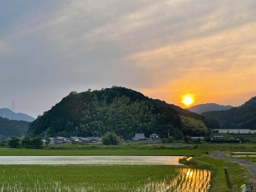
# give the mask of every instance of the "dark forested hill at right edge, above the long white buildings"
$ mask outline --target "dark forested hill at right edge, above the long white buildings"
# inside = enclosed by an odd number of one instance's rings
[[[256,97],[239,107],[226,111],[208,111],[201,115],[217,119],[222,129],[256,129]]]

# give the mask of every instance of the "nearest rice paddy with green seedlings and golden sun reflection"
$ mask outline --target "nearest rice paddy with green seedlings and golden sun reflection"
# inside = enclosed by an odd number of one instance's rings
[[[206,192],[211,172],[174,166],[1,165],[1,192]]]

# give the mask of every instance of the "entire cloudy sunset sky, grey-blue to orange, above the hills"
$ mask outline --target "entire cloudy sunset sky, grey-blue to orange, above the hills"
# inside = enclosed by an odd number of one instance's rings
[[[0,108],[112,85],[185,106],[256,96],[255,0],[3,0]]]

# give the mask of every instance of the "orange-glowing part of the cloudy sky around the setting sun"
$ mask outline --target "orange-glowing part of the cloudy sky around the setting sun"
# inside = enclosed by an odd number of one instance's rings
[[[182,96],[192,94],[194,103],[239,106],[256,96],[256,22],[212,36],[184,41],[134,54],[145,68],[169,77],[140,91],[182,108]],[[157,61],[157,62],[156,62]],[[157,64],[156,64],[157,63]],[[173,67],[171,63],[178,63]]]

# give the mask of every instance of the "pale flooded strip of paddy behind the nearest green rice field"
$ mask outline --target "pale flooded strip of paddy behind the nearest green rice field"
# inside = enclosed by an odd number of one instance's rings
[[[0,164],[30,165],[182,165],[184,156],[0,156]]]

